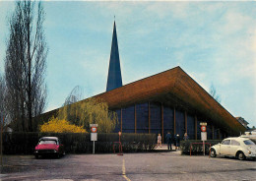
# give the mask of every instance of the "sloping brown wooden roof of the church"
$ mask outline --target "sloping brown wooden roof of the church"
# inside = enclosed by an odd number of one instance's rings
[[[204,115],[231,135],[245,131],[244,127],[219,102],[180,67],[98,94],[95,97],[105,100],[110,109],[156,100]]]

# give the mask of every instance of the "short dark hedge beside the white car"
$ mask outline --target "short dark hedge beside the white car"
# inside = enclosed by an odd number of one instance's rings
[[[223,140],[209,140],[206,141],[205,145],[205,153],[209,154],[210,145],[211,147],[222,143]],[[192,143],[201,143],[201,144],[192,144]],[[192,146],[191,154],[203,154],[203,141],[199,140],[189,140],[189,141],[181,141],[180,142],[180,150],[181,154],[190,154],[190,146]]]

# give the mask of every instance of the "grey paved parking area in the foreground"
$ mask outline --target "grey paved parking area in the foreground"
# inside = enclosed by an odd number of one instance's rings
[[[0,180],[256,180],[256,161],[180,155],[179,151],[69,154],[60,159],[6,155]]]

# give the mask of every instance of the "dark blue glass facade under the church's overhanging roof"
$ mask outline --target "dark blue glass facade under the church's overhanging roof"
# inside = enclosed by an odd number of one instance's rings
[[[163,132],[163,142],[165,142],[164,137],[167,132],[174,133],[174,109],[163,104],[161,110],[160,102],[138,103],[122,109],[116,109],[115,112],[118,117],[118,124],[114,130],[115,133],[120,130],[123,133],[135,133],[136,126],[136,133],[162,134]],[[197,117],[197,140],[201,140],[200,122],[206,121]],[[181,139],[183,139],[186,131],[185,128],[185,111],[175,109],[175,132],[180,135]],[[195,115],[187,113],[187,133],[190,140],[195,140],[195,129]],[[214,131],[214,135],[212,131]],[[220,137],[221,139],[224,138],[223,131],[221,131]],[[208,122],[207,125],[207,139],[219,139],[219,128],[214,127],[214,130],[212,130],[211,122]]]

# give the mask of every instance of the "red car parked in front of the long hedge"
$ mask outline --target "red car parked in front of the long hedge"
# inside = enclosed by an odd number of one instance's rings
[[[57,137],[40,138],[34,149],[35,158],[38,158],[39,155],[54,155],[56,157],[60,157],[64,154],[64,146]]]

